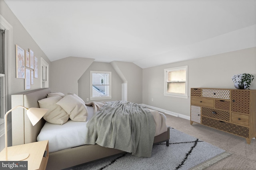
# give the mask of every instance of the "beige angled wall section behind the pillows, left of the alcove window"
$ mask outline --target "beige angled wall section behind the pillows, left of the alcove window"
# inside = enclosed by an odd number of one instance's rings
[[[79,57],[67,57],[53,61],[50,72],[51,91],[78,95],[78,80],[93,61],[94,59]]]

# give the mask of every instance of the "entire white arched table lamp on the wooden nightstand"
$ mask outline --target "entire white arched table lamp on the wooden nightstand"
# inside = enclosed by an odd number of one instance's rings
[[[24,153],[24,154],[18,154],[18,155],[14,155],[14,156],[10,156],[8,158],[8,143],[7,143],[7,115],[14,109],[18,108],[18,107],[22,107],[24,109],[26,109],[27,111],[27,115],[28,115],[28,119],[30,120],[30,122],[32,123],[32,125],[36,125],[36,123],[45,115],[45,113],[48,111],[48,109],[42,109],[42,108],[35,108],[35,107],[31,107],[30,109],[28,109],[27,107],[24,106],[16,106],[12,109],[10,109],[9,111],[7,111],[4,115],[4,126],[5,126],[5,160],[16,160],[16,161],[20,161],[20,160],[24,160],[26,158],[28,158],[29,153]]]

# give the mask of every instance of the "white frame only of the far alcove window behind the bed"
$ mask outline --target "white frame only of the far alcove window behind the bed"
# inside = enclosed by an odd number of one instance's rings
[[[101,97],[92,97],[92,74],[99,73],[99,74],[109,74],[109,96],[101,96]],[[111,84],[112,84],[112,76],[110,71],[90,71],[90,100],[104,100],[104,99],[112,99],[112,92],[111,92]]]

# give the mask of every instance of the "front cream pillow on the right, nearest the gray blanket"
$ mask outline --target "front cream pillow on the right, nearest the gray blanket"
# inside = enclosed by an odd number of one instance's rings
[[[56,104],[60,105],[68,114],[72,121],[86,121],[88,112],[84,102],[74,97],[72,94],[66,95]]]

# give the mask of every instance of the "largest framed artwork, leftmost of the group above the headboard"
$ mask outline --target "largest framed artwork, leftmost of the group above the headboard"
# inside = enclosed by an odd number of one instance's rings
[[[16,78],[25,78],[25,50],[16,45]]]

